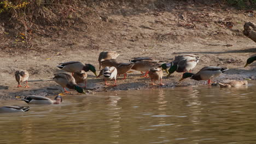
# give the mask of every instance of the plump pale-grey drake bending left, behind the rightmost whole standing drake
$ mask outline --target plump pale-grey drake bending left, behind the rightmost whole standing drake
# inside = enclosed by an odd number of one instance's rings
[[[189,55],[177,56],[175,58],[176,59],[171,63],[171,68],[168,70],[169,74],[167,77],[174,73],[174,71],[177,71],[178,73],[189,71],[189,73],[191,73],[191,70],[194,69],[199,62],[199,57],[192,57]]]

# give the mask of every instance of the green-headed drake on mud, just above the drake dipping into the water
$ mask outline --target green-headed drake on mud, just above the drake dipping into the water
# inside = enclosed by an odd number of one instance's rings
[[[58,68],[65,70],[69,73],[73,73],[75,71],[80,71],[80,70],[84,70],[85,72],[91,70],[92,73],[94,73],[96,76],[96,68],[94,67],[94,65],[91,64],[83,64],[81,62],[66,62],[66,63],[60,63],[60,65],[57,65]]]

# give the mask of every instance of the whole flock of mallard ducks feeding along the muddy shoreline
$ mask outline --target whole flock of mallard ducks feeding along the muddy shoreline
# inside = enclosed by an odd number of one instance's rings
[[[211,84],[211,79],[213,77],[219,76],[228,70],[226,67],[204,67],[197,73],[191,73],[200,58],[196,55],[180,55],[174,58],[174,61],[171,63],[166,63],[163,61],[157,61],[151,57],[136,57],[132,58],[128,63],[118,63],[115,59],[119,56],[119,54],[115,51],[103,51],[100,53],[98,57],[98,62],[100,65],[100,74],[97,75],[96,68],[92,64],[83,64],[81,62],[65,62],[57,65],[58,68],[65,70],[68,73],[56,73],[54,74],[54,81],[58,83],[66,93],[69,93],[66,88],[75,89],[78,93],[85,93],[84,88],[80,87],[77,83],[84,83],[84,87],[86,87],[86,79],[87,72],[92,71],[96,77],[103,76],[105,85],[110,85],[107,81],[114,80],[114,85],[117,86],[117,76],[124,75],[124,79],[127,77],[127,73],[130,73],[131,70],[141,71],[143,74],[141,77],[150,77],[151,83],[150,85],[156,85],[155,81],[160,80],[159,85],[164,85],[162,83],[163,71],[165,70],[167,73],[167,77],[169,77],[175,71],[177,73],[183,73],[181,80],[190,79],[193,80],[208,80],[208,85]],[[250,57],[247,59],[245,67],[248,64],[253,63],[256,60],[256,56]],[[102,69],[103,68],[103,69]],[[26,87],[28,86],[29,74],[27,70],[17,70],[15,72],[15,79],[18,82],[17,87],[22,87],[21,82],[26,82]],[[236,85],[245,85],[246,82],[230,82],[230,83],[219,83],[220,87],[232,87]],[[61,104],[62,97],[57,95],[54,100],[51,100],[46,97],[31,95],[25,97],[24,100],[27,104]],[[30,110],[29,106],[3,106],[0,107],[0,113],[2,112],[19,112],[19,111],[28,111]]]

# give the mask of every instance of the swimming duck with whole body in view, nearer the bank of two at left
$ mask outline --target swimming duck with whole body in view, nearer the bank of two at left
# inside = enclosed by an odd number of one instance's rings
[[[30,95],[21,100],[24,100],[27,104],[32,105],[51,105],[60,104],[62,102],[62,98],[60,95],[57,95],[57,97],[55,97],[54,100],[38,95]]]

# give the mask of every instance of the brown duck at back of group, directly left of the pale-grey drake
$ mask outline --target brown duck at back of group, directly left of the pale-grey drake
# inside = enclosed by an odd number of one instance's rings
[[[137,61],[133,65],[131,69],[137,70],[137,71],[146,71],[144,75],[141,77],[146,77],[149,73],[149,70],[152,68],[160,67],[162,64],[165,64],[165,62],[162,61],[151,61],[151,60],[143,60],[143,61]],[[167,71],[167,69],[165,69]]]

